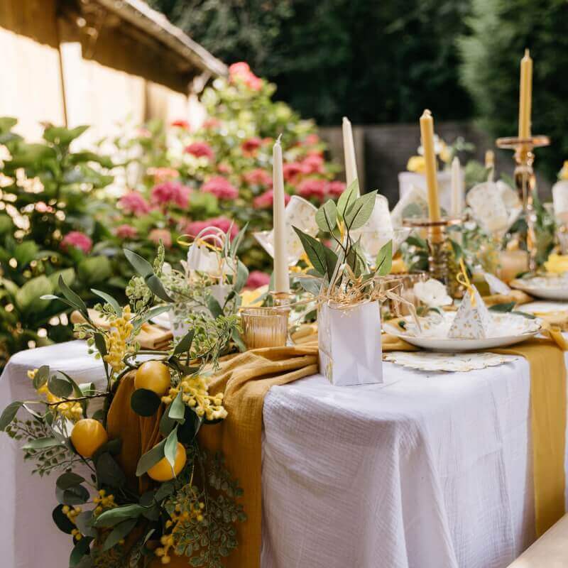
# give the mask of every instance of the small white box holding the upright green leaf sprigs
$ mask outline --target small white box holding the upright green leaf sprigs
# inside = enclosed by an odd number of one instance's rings
[[[378,302],[354,307],[324,303],[317,313],[320,373],[335,386],[383,382]]]

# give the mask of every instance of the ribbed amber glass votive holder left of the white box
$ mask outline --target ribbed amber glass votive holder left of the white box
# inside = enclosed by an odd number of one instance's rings
[[[284,307],[246,307],[241,310],[243,340],[247,349],[283,347],[288,340],[288,315]]]

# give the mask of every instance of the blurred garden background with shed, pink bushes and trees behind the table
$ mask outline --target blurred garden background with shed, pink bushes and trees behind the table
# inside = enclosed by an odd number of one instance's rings
[[[87,299],[124,294],[124,246],[152,258],[162,241],[178,263],[184,235],[249,223],[249,285],[266,283],[251,231],[271,227],[280,133],[288,194],[319,204],[344,189],[348,116],[361,185],[392,208],[430,108],[471,186],[517,131],[525,48],[532,130],[552,138],[536,161],[546,197],[568,157],[567,21],[565,0],[3,2],[2,361],[69,339],[40,299],[59,275]],[[510,153],[496,163],[512,173]]]

